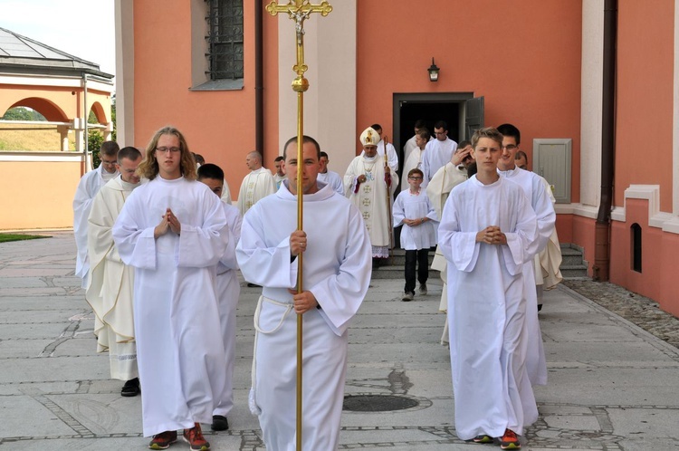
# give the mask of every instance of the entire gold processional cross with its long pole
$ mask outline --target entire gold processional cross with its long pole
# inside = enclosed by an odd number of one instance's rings
[[[302,140],[304,136],[304,92],[309,89],[309,81],[304,78],[307,72],[307,65],[304,63],[304,21],[312,13],[320,13],[323,17],[330,14],[332,6],[326,1],[320,5],[311,5],[310,0],[290,0],[287,5],[279,5],[273,1],[266,6],[269,14],[287,13],[295,21],[295,42],[297,46],[297,63],[292,66],[292,71],[297,73],[297,77],[292,81],[292,91],[297,92],[297,229],[302,230],[303,225],[303,187],[302,168],[304,157],[302,155]],[[297,255],[297,293],[302,292],[302,255]],[[297,315],[297,451],[301,451],[301,314]]]

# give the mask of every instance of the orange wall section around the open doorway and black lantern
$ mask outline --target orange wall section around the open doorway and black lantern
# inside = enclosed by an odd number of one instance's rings
[[[529,156],[534,138],[573,139],[578,202],[582,4],[529,3],[359,2],[358,128],[378,122],[394,136],[395,92],[473,91],[485,97],[485,124],[515,124]],[[438,82],[426,72],[432,57]]]

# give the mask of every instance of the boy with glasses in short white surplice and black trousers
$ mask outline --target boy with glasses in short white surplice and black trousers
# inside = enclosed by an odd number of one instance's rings
[[[406,249],[406,286],[403,301],[415,297],[415,268],[420,283],[419,292],[426,295],[426,280],[429,278],[429,248],[436,245],[436,212],[422,191],[422,171],[408,172],[409,189],[401,191],[394,202],[394,226],[403,225],[401,247]]]

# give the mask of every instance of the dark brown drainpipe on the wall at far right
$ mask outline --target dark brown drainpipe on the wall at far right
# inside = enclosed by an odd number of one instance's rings
[[[594,238],[595,281],[608,282],[610,265],[610,212],[616,162],[617,0],[604,3],[604,87],[601,136],[601,196]]]

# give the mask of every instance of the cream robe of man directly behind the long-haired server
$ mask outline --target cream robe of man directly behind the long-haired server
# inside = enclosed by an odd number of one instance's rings
[[[109,351],[111,379],[139,377],[134,341],[132,292],[134,268],[122,263],[111,230],[125,200],[139,184],[120,176],[101,187],[88,219],[88,260],[91,263],[85,299],[94,312],[97,352]]]

